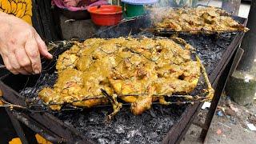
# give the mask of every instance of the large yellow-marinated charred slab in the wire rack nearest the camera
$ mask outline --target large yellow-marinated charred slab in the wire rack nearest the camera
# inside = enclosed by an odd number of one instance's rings
[[[194,90],[202,65],[192,60],[191,49],[181,38],[90,38],[75,42],[58,57],[54,87],[46,87],[38,95],[53,110],[66,103],[87,108],[111,103],[111,119],[121,110],[118,99],[122,99],[131,103],[133,114],[142,114],[152,102],[169,105],[163,95]]]

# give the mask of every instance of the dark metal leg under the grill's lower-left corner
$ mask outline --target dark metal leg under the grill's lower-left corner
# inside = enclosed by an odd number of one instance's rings
[[[12,122],[18,137],[21,139],[22,144],[37,143],[34,132],[25,126],[22,126],[22,124],[14,118],[10,108],[6,108],[6,113],[9,115],[10,121]]]

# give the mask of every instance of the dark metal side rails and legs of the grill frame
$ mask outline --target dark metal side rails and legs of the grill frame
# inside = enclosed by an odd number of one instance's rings
[[[114,36],[111,34],[114,34],[115,31],[122,31],[123,29],[125,29],[124,31],[126,32],[126,34],[123,33],[123,35],[128,35],[130,33],[136,34],[139,31],[138,27],[142,27],[139,24],[143,22],[145,21],[137,22],[137,20],[134,20],[132,22],[122,23],[119,26],[115,26],[109,30],[104,30],[103,32],[98,33],[98,35],[101,36],[101,38],[113,38]],[[246,21],[242,19],[242,23],[245,22]],[[124,28],[124,26],[126,27]],[[137,29],[134,29],[134,27]],[[196,125],[202,127],[202,139],[206,138],[206,134],[209,130],[210,122],[214,117],[214,112],[216,110],[216,107],[218,106],[218,101],[222,94],[222,90],[226,85],[226,79],[229,77],[229,74],[232,72],[232,70],[234,70],[234,68],[231,67],[237,66],[239,56],[235,57],[235,55],[241,54],[241,51],[238,50],[238,46],[242,41],[243,35],[243,32],[236,34],[233,41],[230,43],[230,46],[227,46],[225,53],[222,54],[221,61],[218,62],[218,65],[214,67],[214,71],[210,74],[210,82],[215,89],[214,99],[210,106],[209,113],[207,114],[206,122],[204,124],[194,122]],[[26,82],[26,78],[20,77],[18,81]],[[18,104],[20,106],[26,106],[24,98],[22,98],[21,95],[18,94],[17,91],[15,91],[21,90],[22,86],[24,86],[24,83],[23,85],[18,85],[18,81],[14,78],[13,75],[7,75],[5,77],[2,77],[2,81],[0,82],[0,89],[3,92],[3,98],[5,98],[6,101]],[[183,136],[186,134],[186,131],[189,129],[201,107],[202,103],[195,103],[194,105],[187,106],[186,110],[182,113],[178,121],[174,123],[174,126],[170,128],[169,132],[163,138],[162,142],[181,142]],[[13,122],[17,134],[19,134],[22,138],[23,143],[33,143],[34,140],[32,138],[30,141],[31,134],[24,130],[24,128],[20,126],[19,123],[26,125],[26,127],[30,128],[30,130],[33,130],[34,133],[42,135],[42,137],[46,138],[50,142],[94,143],[91,142],[90,139],[86,138],[84,134],[81,134],[80,132],[78,132],[78,130],[75,130],[74,127],[61,122],[52,114],[28,113],[22,110],[10,110],[9,108],[6,108],[6,110],[10,115],[11,121]]]

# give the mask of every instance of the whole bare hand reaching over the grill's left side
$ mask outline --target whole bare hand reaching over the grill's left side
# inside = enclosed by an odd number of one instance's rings
[[[0,12],[0,54],[13,74],[39,74],[40,54],[52,58],[36,30],[20,18]]]

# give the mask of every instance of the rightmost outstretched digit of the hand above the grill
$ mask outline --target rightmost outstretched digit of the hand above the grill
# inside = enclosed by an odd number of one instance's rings
[[[45,58],[49,58],[49,59],[53,58],[53,56],[48,52],[45,42],[42,41],[42,38],[40,38],[39,34],[36,32],[35,32],[35,39],[38,42],[39,53],[42,54],[42,56]]]

